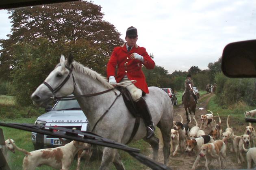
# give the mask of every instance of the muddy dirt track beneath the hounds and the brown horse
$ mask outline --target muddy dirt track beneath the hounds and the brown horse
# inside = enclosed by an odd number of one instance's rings
[[[211,97],[213,97],[212,94],[206,94],[198,100],[199,103],[197,104],[196,111],[195,111],[195,118],[197,120],[198,126],[201,125],[200,115],[201,114],[207,114],[207,108],[206,107],[207,107],[207,104],[208,104]],[[204,108],[204,109],[199,110],[199,108]],[[180,115],[182,115],[183,122],[186,122],[186,114],[185,113],[186,112],[184,110],[183,105],[179,105],[177,107],[174,106],[174,121],[180,121],[180,116],[177,115],[177,114],[180,114]],[[221,115],[220,115],[220,117],[221,117]],[[217,123],[219,122],[218,118],[215,118],[215,120],[216,120]],[[234,124],[235,123],[234,121],[236,121],[236,120],[232,120],[232,118],[229,119],[229,122],[231,122],[231,123],[229,123],[229,125]],[[245,128],[246,125],[247,124],[245,122],[244,123],[241,123],[241,122],[239,123],[240,133],[243,131],[243,129]],[[195,126],[195,121],[192,121],[192,123],[189,124],[189,127],[193,127],[193,126]],[[240,127],[241,127],[241,129],[240,129]],[[223,131],[225,131],[225,129],[226,129],[226,117],[221,117],[221,128],[223,129]],[[210,131],[209,128],[206,129],[206,131],[205,131],[206,134],[208,134],[209,131]],[[234,129],[234,131],[235,131],[235,129]],[[164,160],[163,159],[163,142],[162,142],[162,137],[161,137],[160,130],[157,133],[158,133],[158,137],[159,137],[159,140],[160,140],[159,152],[158,152],[158,161],[163,163],[163,160]],[[152,149],[151,149],[151,151],[152,151]],[[180,150],[178,151],[178,154],[175,155],[175,156],[172,156],[172,153],[173,153],[173,151],[172,151],[172,147],[171,147],[171,155],[169,157],[169,162],[168,162],[168,166],[171,169],[173,169],[173,170],[190,170],[192,168],[193,163],[194,163],[195,158],[196,158],[195,153],[193,153],[191,156],[189,156],[187,153],[185,153],[185,151],[181,152]],[[149,157],[152,158],[152,154],[150,154]],[[246,160],[245,153],[244,153],[244,158]],[[200,169],[200,170],[205,169],[204,168],[204,164],[205,164],[204,159],[203,159],[202,162],[203,162],[202,166],[198,166],[197,169]],[[225,169],[246,169],[247,168],[246,163],[243,163],[242,165],[238,165],[235,153],[231,153],[229,148],[227,148],[227,158],[226,158],[226,162],[224,163],[224,165],[225,165]],[[253,167],[254,167],[254,165],[253,165]],[[212,161],[212,164],[210,166],[208,166],[208,168],[209,169],[217,169],[218,168],[217,161],[216,160]]]

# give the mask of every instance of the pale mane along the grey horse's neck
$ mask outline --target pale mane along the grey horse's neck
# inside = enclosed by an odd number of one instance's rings
[[[76,61],[73,61],[72,65],[73,65],[74,69],[76,71],[78,71],[79,73],[86,74],[89,77],[91,77],[92,79],[98,80],[106,88],[113,88],[113,86],[107,82],[106,77],[103,77],[102,75],[100,75],[96,71],[93,71],[93,70],[89,69],[88,67],[85,67],[81,63],[76,62]]]

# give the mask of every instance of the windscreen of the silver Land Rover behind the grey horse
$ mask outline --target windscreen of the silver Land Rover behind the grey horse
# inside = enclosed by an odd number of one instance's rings
[[[77,100],[58,101],[52,110],[81,110]]]

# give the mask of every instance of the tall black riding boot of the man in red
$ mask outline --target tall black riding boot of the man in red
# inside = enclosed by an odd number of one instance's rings
[[[142,116],[144,123],[147,128],[147,136],[146,139],[154,136],[154,123],[152,122],[152,117],[150,111],[148,109],[148,105],[143,97],[141,97],[138,101],[135,102],[136,108],[139,114]]]

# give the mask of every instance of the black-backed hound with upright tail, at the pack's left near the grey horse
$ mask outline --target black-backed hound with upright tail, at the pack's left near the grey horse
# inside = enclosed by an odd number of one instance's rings
[[[180,116],[180,114],[178,114]],[[187,139],[187,134],[189,132],[189,125],[188,124],[183,124],[183,118],[181,117],[181,121],[180,122],[175,122],[174,124],[174,129],[176,131],[178,131],[179,136],[180,136],[180,148],[183,148],[183,146],[185,146],[185,142]]]

